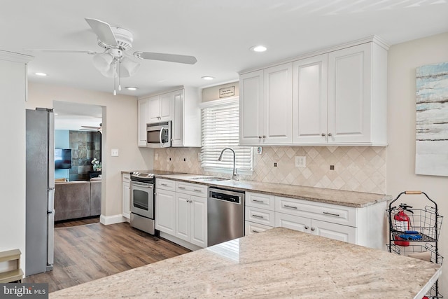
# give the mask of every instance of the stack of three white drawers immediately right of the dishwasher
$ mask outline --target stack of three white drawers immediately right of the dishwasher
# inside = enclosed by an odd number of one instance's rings
[[[274,195],[246,191],[245,235],[274,228]]]

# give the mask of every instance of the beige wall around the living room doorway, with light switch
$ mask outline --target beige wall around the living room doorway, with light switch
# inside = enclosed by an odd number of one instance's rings
[[[137,97],[114,96],[109,92],[79,90],[59,85],[29,84],[27,109],[52,108],[53,101],[103,107],[102,222],[104,219],[106,223],[120,219],[121,171],[153,168],[153,151],[150,148],[137,147]],[[118,157],[111,156],[112,148],[118,148]]]

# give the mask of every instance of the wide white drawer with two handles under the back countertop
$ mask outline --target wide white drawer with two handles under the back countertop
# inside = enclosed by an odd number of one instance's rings
[[[356,208],[276,197],[275,211],[356,227]]]

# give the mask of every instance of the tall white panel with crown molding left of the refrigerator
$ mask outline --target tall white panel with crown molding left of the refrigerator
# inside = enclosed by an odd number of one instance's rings
[[[21,265],[25,265],[24,58],[32,57],[0,50],[0,251],[20,249]]]

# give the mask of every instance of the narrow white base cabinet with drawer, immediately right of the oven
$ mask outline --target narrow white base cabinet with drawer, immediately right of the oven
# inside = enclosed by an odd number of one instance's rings
[[[155,180],[155,229],[174,235],[176,225],[176,193],[174,181]]]

